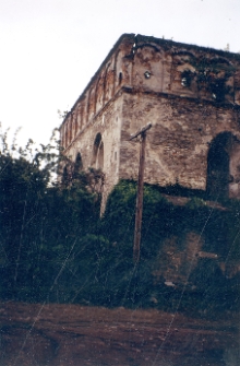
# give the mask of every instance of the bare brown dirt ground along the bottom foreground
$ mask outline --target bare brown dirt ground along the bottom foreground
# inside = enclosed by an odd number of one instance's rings
[[[239,316],[0,304],[1,366],[239,366]]]

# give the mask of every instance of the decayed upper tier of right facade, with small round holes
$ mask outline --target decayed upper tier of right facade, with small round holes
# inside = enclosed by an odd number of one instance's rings
[[[220,102],[240,105],[240,57],[214,49],[136,36],[132,86],[145,92],[215,102],[218,99],[218,91],[224,90]]]

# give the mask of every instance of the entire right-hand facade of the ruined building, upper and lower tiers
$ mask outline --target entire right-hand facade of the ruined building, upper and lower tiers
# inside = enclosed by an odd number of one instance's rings
[[[231,197],[240,197],[240,64],[226,52],[136,37],[132,88],[125,91],[120,177],[137,177],[139,143],[132,133],[151,122],[145,181],[206,189],[207,154],[224,131],[238,140],[231,152]]]

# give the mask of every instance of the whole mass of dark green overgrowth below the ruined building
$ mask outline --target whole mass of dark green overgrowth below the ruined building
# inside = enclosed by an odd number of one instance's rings
[[[77,161],[63,164],[51,144],[33,153],[31,141],[17,150],[1,139],[1,299],[196,312],[238,308],[239,274],[224,265],[240,261],[239,202],[213,209],[190,197],[175,205],[160,188],[145,186],[135,267],[135,182],[116,186],[100,219],[100,172],[83,173]],[[50,173],[63,165],[62,180],[52,182]],[[189,233],[199,235],[208,257],[195,260]]]

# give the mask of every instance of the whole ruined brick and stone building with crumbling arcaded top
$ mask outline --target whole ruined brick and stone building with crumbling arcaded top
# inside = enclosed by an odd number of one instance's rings
[[[119,179],[240,198],[240,55],[123,34],[65,116],[64,154],[105,173],[103,205]]]

